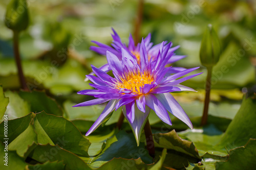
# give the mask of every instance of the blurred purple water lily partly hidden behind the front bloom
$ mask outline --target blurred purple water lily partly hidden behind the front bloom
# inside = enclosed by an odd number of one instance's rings
[[[129,37],[129,44],[128,46],[125,45],[125,43],[123,43],[119,37],[119,35],[116,33],[116,31],[112,28],[114,34],[112,34],[113,37],[113,43],[111,44],[113,47],[109,46],[109,45],[105,45],[103,43],[100,43],[98,41],[92,41],[95,44],[97,44],[98,46],[91,46],[90,50],[95,51],[96,53],[99,53],[101,55],[106,55],[107,51],[110,51],[111,53],[113,53],[114,55],[117,56],[117,58],[122,61],[122,52],[121,49],[123,48],[124,50],[126,50],[127,52],[130,52],[132,55],[134,55],[137,59],[137,62],[140,65],[140,46],[141,44],[138,43],[137,45],[135,45],[134,40],[132,35],[130,34]],[[158,52],[159,52],[159,48],[161,44],[157,44],[153,46],[153,42],[151,42],[151,33],[147,35],[147,37],[144,39],[144,44],[146,47],[146,51],[147,51],[147,56],[148,56],[148,60],[152,59],[152,62],[156,61],[156,58],[158,56]],[[164,41],[164,45],[167,44],[167,41]],[[174,51],[176,51],[180,46],[175,46],[172,47],[173,44],[169,45],[169,49],[167,52],[167,55],[170,55],[172,53],[174,53]],[[182,58],[184,58],[186,56],[179,56],[179,55],[175,55],[173,54],[172,58],[170,58],[167,61],[167,64],[170,63],[174,63]],[[109,64],[105,64],[103,66],[100,67],[101,70],[108,72],[111,70]],[[170,68],[166,73],[167,74],[173,74],[179,71],[185,70],[185,68],[182,67],[172,67]]]

